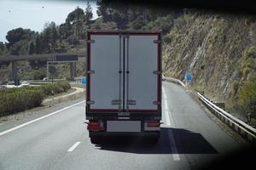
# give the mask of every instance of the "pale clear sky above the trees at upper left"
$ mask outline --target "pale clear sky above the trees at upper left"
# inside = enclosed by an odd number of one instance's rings
[[[15,28],[43,31],[47,22],[64,23],[75,8],[86,8],[87,0],[0,0],[0,42]],[[93,19],[97,18],[96,1],[90,0]]]

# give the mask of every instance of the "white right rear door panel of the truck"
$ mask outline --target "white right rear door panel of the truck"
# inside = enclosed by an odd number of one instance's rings
[[[158,40],[157,35],[130,35],[125,44],[125,99],[135,100],[136,105],[127,105],[130,110],[157,110],[158,80]],[[128,53],[127,50],[128,49]],[[128,68],[129,67],[129,68]]]

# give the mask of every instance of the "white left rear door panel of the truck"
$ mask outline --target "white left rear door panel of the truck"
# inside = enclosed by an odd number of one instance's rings
[[[90,39],[95,41],[90,44],[90,70],[95,71],[90,74],[90,101],[94,101],[90,109],[119,109],[112,101],[123,99],[122,41],[119,35],[90,35]]]

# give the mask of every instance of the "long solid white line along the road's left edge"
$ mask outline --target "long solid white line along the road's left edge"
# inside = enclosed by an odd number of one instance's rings
[[[79,104],[81,104],[81,103],[84,103],[84,101],[85,101],[85,100],[80,101],[79,103],[76,103],[76,104],[74,104],[74,105],[69,105],[69,106],[67,106],[67,107],[64,107],[64,108],[61,109],[61,110],[58,110],[58,111],[54,111],[54,112],[52,112],[52,113],[49,113],[48,115],[38,117],[37,119],[34,119],[34,120],[30,121],[30,122],[23,123],[23,124],[21,124],[21,125],[19,125],[19,126],[17,126],[17,127],[10,128],[9,130],[6,130],[6,131],[3,131],[2,133],[0,133],[0,136],[2,136],[3,134],[6,134],[6,133],[13,132],[13,131],[15,131],[16,129],[19,129],[19,128],[21,128],[21,127],[25,127],[25,126],[31,124],[32,122],[38,122],[38,121],[40,121],[40,120],[42,120],[42,119],[44,119],[44,118],[46,118],[46,117],[48,117],[48,116],[53,116],[53,115],[55,115],[56,113],[59,113],[59,112],[61,112],[61,111],[65,111],[65,110],[67,110],[67,109],[69,109],[69,108],[71,108],[71,107],[73,107],[73,106],[75,106],[75,105],[79,105]]]

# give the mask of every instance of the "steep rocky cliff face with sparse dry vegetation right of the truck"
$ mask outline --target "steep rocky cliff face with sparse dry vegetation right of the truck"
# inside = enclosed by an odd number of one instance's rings
[[[190,12],[175,23],[164,37],[165,76],[183,80],[191,72],[191,88],[234,105],[242,82],[255,75],[255,54],[249,56],[253,64],[242,64],[255,48],[255,16]]]

